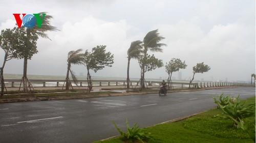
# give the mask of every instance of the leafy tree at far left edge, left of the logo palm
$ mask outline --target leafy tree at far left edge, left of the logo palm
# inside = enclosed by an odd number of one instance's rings
[[[1,96],[4,95],[5,81],[4,81],[4,68],[7,61],[13,59],[12,53],[15,52],[15,45],[17,43],[17,37],[14,34],[15,27],[11,29],[2,30],[0,35],[0,47],[4,50],[4,62],[0,68],[0,85],[1,85]]]

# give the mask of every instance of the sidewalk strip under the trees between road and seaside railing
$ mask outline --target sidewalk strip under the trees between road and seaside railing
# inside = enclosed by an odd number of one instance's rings
[[[96,94],[86,94],[86,88],[87,87],[80,87],[80,88],[74,87],[74,89],[84,89],[84,91],[78,91],[78,92],[70,92],[70,91],[63,90],[63,92],[36,93],[36,94],[32,93],[31,95],[24,94],[24,93],[11,94],[10,97],[0,98],[0,103],[158,94],[158,89],[160,87],[152,86],[151,88],[154,88],[155,91],[149,90],[149,91],[143,91],[143,92],[138,92],[138,91],[135,92],[135,91],[133,91],[133,89],[130,89],[130,92],[126,92],[127,90],[121,90],[122,88],[124,89],[124,86],[122,86],[122,85],[93,87],[92,93],[93,92],[99,92],[98,94],[97,93]],[[120,88],[120,90],[118,90],[118,88]],[[150,87],[148,87],[148,88],[150,88]],[[168,93],[191,92],[191,91],[223,89],[223,88],[236,88],[236,87],[211,87],[211,88],[204,88],[204,89],[169,90]],[[18,89],[19,88],[7,88],[8,91],[11,91],[11,90],[18,91]],[[61,90],[61,89],[62,89],[62,87],[39,87],[39,88],[34,88],[34,90]],[[115,90],[110,90],[110,89],[115,89]],[[111,93],[100,93],[100,92],[111,92]],[[51,94],[53,94],[53,95],[51,95]],[[14,97],[12,97],[13,95],[14,95]],[[19,97],[17,97],[17,96],[19,96]]]

